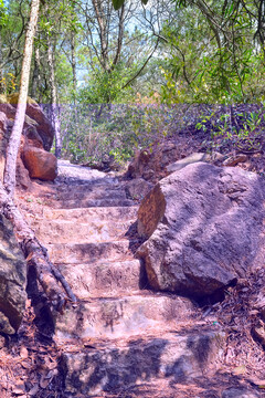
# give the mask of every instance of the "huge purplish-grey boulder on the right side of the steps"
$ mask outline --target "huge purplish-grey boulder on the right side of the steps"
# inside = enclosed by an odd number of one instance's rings
[[[264,182],[197,163],[158,182],[138,212],[138,249],[156,290],[211,295],[263,264]]]

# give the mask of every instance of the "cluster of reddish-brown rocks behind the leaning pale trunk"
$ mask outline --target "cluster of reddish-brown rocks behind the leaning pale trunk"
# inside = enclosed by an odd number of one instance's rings
[[[9,136],[12,129],[18,94],[8,100],[0,98],[0,176],[4,168],[4,154]],[[20,156],[18,158],[18,181],[29,188],[30,178],[54,180],[57,174],[57,161],[53,154],[49,153],[54,138],[54,129],[41,107],[31,98],[28,98],[23,137],[21,140]]]

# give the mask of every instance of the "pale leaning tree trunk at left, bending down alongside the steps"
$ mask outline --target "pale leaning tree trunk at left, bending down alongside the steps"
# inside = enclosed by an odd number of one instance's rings
[[[28,264],[34,266],[36,277],[52,306],[55,310],[61,311],[67,301],[66,293],[72,301],[76,301],[76,298],[64,277],[59,273],[59,270],[56,270],[50,262],[46,249],[38,241],[34,232],[28,226],[20,210],[13,202],[17,157],[25,117],[30,66],[39,7],[40,0],[32,0],[30,23],[25,35],[19,101],[14,117],[14,125],[7,149],[3,185],[0,181],[0,205],[2,213],[13,226],[14,234],[24,252]],[[64,289],[57,284],[57,281],[62,283]]]

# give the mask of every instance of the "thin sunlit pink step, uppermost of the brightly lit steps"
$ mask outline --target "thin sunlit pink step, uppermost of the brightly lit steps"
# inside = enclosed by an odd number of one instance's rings
[[[77,208],[77,209],[49,209],[43,211],[43,218],[46,220],[64,220],[75,222],[102,221],[129,221],[137,217],[138,206],[130,207],[97,207],[97,208]]]

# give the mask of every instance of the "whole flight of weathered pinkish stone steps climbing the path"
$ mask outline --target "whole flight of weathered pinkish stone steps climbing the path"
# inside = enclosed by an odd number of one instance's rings
[[[29,221],[78,297],[54,325],[65,397],[104,397],[214,369],[219,327],[199,321],[190,300],[148,290],[134,256],[138,207],[125,184],[57,184],[45,197],[49,206]]]

